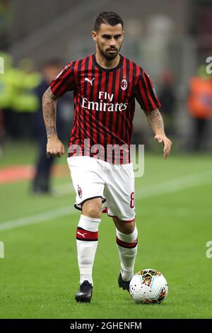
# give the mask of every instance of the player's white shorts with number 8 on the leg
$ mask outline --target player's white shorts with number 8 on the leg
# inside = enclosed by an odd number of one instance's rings
[[[135,218],[133,164],[110,164],[88,156],[68,157],[73,187],[76,191],[75,208],[91,198],[102,198],[103,213],[131,222]]]

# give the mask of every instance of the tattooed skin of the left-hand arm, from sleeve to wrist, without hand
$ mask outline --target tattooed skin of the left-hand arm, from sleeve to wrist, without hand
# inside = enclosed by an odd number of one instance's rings
[[[51,88],[49,87],[45,91],[45,94],[42,96],[42,114],[45,121],[48,138],[52,135],[57,135],[56,109],[57,97],[52,94]]]

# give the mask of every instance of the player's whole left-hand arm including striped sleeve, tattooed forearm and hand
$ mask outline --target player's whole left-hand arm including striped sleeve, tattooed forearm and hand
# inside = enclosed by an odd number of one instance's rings
[[[51,155],[61,157],[65,152],[64,145],[57,137],[57,99],[66,91],[73,90],[74,86],[73,62],[70,62],[52,81],[51,86],[42,96],[42,113],[47,130],[47,157]]]

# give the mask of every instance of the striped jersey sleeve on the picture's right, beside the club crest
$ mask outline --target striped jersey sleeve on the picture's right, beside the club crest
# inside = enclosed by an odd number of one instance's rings
[[[136,100],[143,111],[153,111],[160,108],[161,104],[153,88],[153,82],[146,71],[141,69],[139,80],[136,84]]]

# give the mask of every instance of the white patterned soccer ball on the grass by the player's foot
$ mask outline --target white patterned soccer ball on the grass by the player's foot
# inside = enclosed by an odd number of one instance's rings
[[[168,292],[165,277],[155,269],[143,269],[129,283],[129,293],[136,303],[162,303]]]

